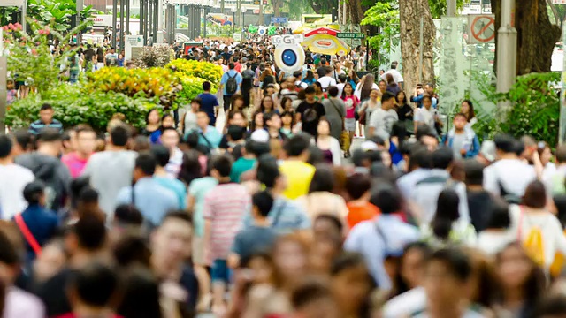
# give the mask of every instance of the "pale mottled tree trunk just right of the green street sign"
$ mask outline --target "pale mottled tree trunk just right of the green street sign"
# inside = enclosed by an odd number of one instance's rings
[[[431,9],[428,4],[428,0],[399,1],[402,74],[405,80],[405,91],[408,92],[408,94],[412,94],[419,78],[421,17],[423,18],[422,82],[423,84],[433,83],[434,67],[432,43],[434,42],[436,28],[432,22]]]

